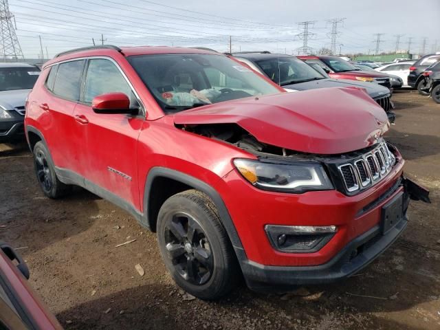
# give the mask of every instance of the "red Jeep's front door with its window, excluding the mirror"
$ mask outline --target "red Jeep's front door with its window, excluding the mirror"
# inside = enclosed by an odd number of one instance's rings
[[[139,115],[93,111],[91,101],[96,96],[116,91],[129,96]],[[111,58],[89,58],[74,118],[76,136],[84,141],[80,173],[86,188],[126,209],[139,210],[137,138],[145,115],[129,80]]]

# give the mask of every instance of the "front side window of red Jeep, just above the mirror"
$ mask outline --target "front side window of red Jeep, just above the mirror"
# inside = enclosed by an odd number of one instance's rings
[[[85,76],[83,101],[91,103],[94,97],[98,95],[116,91],[133,99],[131,87],[118,67],[111,61],[102,58],[89,60],[89,67]]]

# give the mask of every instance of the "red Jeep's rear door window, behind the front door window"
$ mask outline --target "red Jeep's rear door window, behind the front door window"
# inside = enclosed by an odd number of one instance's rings
[[[54,88],[52,89],[54,94],[61,98],[67,98],[67,100],[79,100],[84,63],[84,60],[79,60],[58,65],[58,72],[56,74]]]

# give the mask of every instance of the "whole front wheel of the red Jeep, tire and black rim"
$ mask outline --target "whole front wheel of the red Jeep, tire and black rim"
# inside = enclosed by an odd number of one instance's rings
[[[174,281],[192,296],[219,299],[241,279],[217,208],[199,190],[179,192],[164,202],[157,217],[157,241]]]

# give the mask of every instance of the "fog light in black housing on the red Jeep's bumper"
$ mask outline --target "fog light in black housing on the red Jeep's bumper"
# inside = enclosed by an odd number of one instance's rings
[[[336,225],[265,225],[272,246],[281,252],[311,253],[329,243]]]

